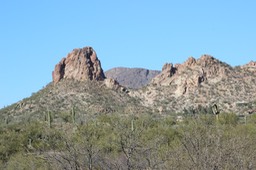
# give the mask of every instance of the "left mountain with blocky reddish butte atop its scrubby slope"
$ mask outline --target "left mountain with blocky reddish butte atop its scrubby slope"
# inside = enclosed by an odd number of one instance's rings
[[[31,97],[1,109],[0,123],[44,120],[49,113],[54,121],[65,121],[71,112],[81,123],[89,115],[147,110],[125,87],[105,77],[92,47],[74,49],[55,66],[52,77],[52,82]]]

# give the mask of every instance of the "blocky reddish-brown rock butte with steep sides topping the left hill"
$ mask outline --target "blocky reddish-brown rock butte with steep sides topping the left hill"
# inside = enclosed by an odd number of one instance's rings
[[[100,60],[92,47],[74,49],[63,58],[52,73],[53,82],[56,84],[61,79],[104,80],[105,75],[101,68]]]

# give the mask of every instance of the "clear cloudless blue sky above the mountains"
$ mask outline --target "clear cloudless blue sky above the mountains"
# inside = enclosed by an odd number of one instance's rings
[[[210,54],[256,60],[254,0],[2,0],[0,108],[51,82],[61,58],[92,46],[106,71],[160,70]]]

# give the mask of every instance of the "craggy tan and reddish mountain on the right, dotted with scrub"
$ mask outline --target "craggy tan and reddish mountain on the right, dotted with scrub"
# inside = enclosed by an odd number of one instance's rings
[[[183,64],[165,64],[151,84],[133,96],[159,112],[206,112],[217,104],[222,111],[243,114],[255,107],[255,76],[255,62],[231,67],[210,55],[190,57]]]

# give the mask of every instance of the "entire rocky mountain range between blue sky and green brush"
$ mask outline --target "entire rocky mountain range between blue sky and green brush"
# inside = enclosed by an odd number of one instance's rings
[[[160,73],[115,68],[105,76],[96,52],[84,47],[63,58],[52,76],[53,81],[39,92],[1,109],[0,123],[45,119],[50,113],[54,121],[65,121],[75,113],[81,123],[98,114],[211,113],[213,104],[221,112],[236,114],[256,108],[253,61],[232,67],[203,55],[183,64],[167,63]]]

